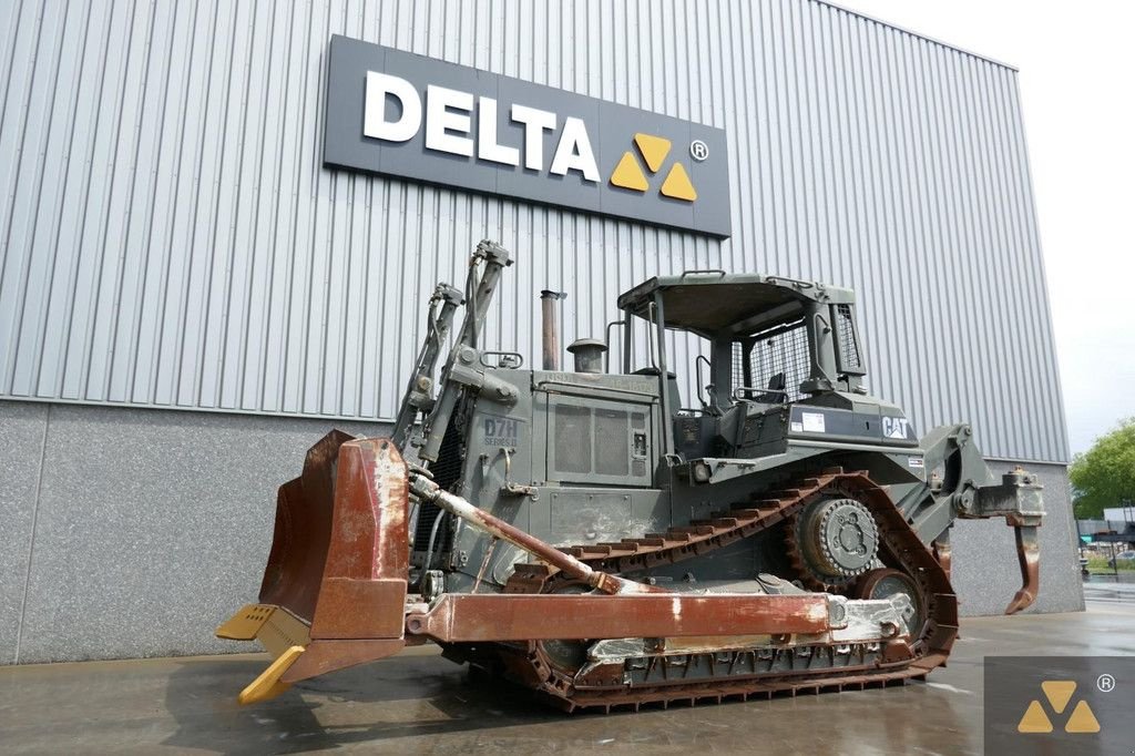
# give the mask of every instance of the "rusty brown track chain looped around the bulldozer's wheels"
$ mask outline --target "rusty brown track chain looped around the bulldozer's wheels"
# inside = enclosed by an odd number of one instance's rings
[[[765,672],[751,677],[729,677],[697,682],[665,681],[662,684],[629,686],[620,673],[599,667],[580,678],[555,667],[538,642],[494,645],[490,654],[513,677],[550,697],[552,703],[577,708],[638,708],[642,704],[717,700],[771,696],[775,692],[836,690],[846,687],[885,686],[925,677],[943,664],[957,637],[957,599],[945,570],[909,528],[886,492],[866,471],[844,472],[829,468],[794,481],[791,487],[755,496],[749,503],[687,526],[673,527],[641,538],[616,543],[572,546],[562,551],[592,569],[629,576],[661,564],[673,564],[704,555],[741,538],[748,538],[793,518],[818,497],[856,498],[871,510],[880,530],[880,555],[889,566],[911,576],[923,590],[927,622],[909,645],[889,641],[878,661],[861,666],[824,669],[819,672]],[[557,571],[546,564],[518,564],[505,593],[541,593],[563,585]],[[816,647],[819,649],[821,647]],[[482,647],[481,652],[485,649]],[[830,649],[829,649],[830,650]],[[648,661],[642,660],[644,662]],[[709,660],[712,667],[713,660]],[[609,666],[609,665],[608,665]]]

